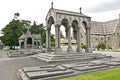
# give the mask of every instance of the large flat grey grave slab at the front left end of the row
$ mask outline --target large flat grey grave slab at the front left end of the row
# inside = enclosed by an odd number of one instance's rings
[[[61,77],[66,74],[74,73],[73,70],[69,70],[62,66],[40,66],[40,67],[25,67],[19,70],[19,75],[22,80],[27,79],[49,79],[49,77]]]

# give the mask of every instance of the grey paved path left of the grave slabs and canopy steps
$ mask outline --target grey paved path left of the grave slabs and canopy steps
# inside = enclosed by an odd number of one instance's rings
[[[4,53],[4,54],[3,54]],[[23,67],[33,67],[33,66],[44,66],[49,64],[63,64],[63,62],[58,63],[47,63],[36,59],[32,56],[27,57],[17,57],[17,58],[7,58],[7,54],[4,51],[0,51],[0,80],[17,80],[16,73],[18,69]],[[72,61],[73,63],[75,61]],[[64,62],[71,63],[71,62]]]

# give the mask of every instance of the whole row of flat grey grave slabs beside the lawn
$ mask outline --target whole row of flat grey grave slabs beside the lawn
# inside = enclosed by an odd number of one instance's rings
[[[19,74],[22,80],[53,80],[60,77],[95,71],[100,69],[107,69],[119,66],[120,62],[112,61],[110,58],[99,60],[79,61],[69,64],[61,65],[47,65],[38,67],[24,67],[23,72]],[[25,78],[25,79],[24,79]]]

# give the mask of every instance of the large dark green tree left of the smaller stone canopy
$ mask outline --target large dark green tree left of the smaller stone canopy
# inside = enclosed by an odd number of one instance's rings
[[[28,25],[29,21],[25,20],[12,20],[8,25],[3,29],[3,36],[1,36],[1,41],[5,46],[18,46],[19,37],[27,31],[25,24]]]

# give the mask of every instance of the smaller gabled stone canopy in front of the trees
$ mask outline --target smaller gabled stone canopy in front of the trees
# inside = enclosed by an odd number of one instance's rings
[[[38,49],[41,48],[41,35],[31,34],[28,30],[25,34],[19,37],[20,49]]]

